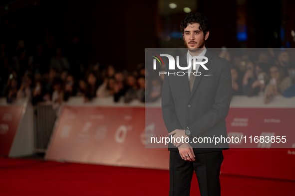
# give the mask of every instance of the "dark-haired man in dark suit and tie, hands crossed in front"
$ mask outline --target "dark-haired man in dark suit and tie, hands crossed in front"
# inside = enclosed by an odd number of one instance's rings
[[[188,141],[169,143],[169,196],[189,196],[194,171],[201,196],[220,196],[222,150],[229,149],[229,144],[226,141],[215,143],[215,139],[227,138],[225,118],[232,92],[230,63],[206,49],[209,26],[203,14],[189,13],[180,28],[188,53],[180,58],[179,65],[187,67],[194,56],[205,56],[208,62],[204,65],[208,70],[199,65],[196,69],[191,66],[184,76],[164,75],[162,115],[165,126],[169,135]],[[182,70],[175,68],[173,71]],[[209,138],[213,143],[201,142],[200,138]]]

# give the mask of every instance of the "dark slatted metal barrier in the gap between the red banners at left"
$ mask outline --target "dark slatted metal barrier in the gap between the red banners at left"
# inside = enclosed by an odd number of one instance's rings
[[[34,106],[34,151],[45,152],[56,120],[56,110],[51,103],[40,102]]]

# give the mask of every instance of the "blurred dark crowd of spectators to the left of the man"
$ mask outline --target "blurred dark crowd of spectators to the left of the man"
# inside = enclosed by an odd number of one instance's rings
[[[15,29],[9,20],[0,29],[1,37],[5,37],[0,40],[0,96],[6,97],[7,103],[30,97],[33,104],[46,101],[58,107],[71,96],[83,96],[85,102],[96,97],[145,102],[143,64],[130,72],[98,62],[87,63],[89,50],[77,36],[68,43],[58,43],[45,30],[41,39],[29,40],[21,38]],[[160,83],[156,83],[157,88]],[[160,90],[153,96],[153,100],[159,98]]]

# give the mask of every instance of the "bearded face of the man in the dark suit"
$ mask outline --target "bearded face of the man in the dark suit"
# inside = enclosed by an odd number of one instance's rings
[[[183,40],[186,48],[191,48],[190,51],[196,51],[193,48],[204,48],[205,40],[209,36],[209,31],[204,36],[203,31],[199,29],[199,23],[188,24],[184,29]]]

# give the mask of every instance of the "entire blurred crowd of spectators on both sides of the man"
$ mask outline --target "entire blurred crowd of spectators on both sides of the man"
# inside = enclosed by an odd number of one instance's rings
[[[111,97],[125,103],[134,99],[153,102],[161,97],[163,76],[151,77],[144,64],[131,72],[87,64],[87,50],[79,37],[61,45],[46,30],[43,39],[32,42],[15,38],[20,37],[13,33],[15,27],[6,23],[1,29],[7,39],[0,42],[0,95],[7,103],[30,97],[33,104],[47,101],[58,107],[71,96],[83,96],[85,102]],[[229,50],[221,49],[219,56],[232,65],[233,95],[263,95],[265,103],[275,95],[295,96],[295,62],[288,51],[253,50],[258,53],[256,58],[243,50],[231,56]]]

